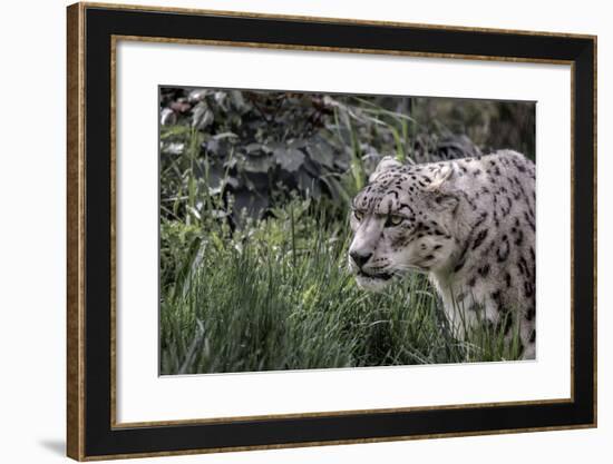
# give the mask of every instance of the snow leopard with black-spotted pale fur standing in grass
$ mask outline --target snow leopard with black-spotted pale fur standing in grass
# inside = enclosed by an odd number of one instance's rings
[[[421,165],[385,157],[352,200],[358,285],[380,292],[426,273],[455,333],[487,323],[509,338],[514,326],[522,357],[534,359],[535,179],[534,162],[513,150]]]

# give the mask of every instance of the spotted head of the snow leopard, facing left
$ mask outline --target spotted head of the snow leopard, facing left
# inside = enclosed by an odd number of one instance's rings
[[[380,290],[409,270],[448,265],[459,198],[446,188],[450,164],[402,166],[386,157],[353,198],[349,267],[360,287]]]

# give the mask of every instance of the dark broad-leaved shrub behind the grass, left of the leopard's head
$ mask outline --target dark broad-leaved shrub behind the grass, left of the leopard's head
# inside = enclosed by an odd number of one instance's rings
[[[163,118],[162,198],[173,205],[163,214],[197,215],[210,196],[226,194],[234,220],[243,208],[260,217],[292,190],[349,201],[350,154],[329,124],[337,110],[328,97],[201,89],[184,100],[188,116]]]

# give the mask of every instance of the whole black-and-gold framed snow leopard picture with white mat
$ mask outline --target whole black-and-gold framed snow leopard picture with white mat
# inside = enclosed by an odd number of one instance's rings
[[[68,7],[68,455],[595,427],[595,102],[593,36]]]

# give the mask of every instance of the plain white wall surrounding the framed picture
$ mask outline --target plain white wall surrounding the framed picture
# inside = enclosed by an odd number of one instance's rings
[[[124,0],[127,3],[138,3]],[[144,2],[144,0],[143,0]],[[66,460],[65,446],[65,105],[66,12],[62,0],[8,2],[0,69],[0,456],[8,463]],[[177,463],[513,463],[588,461],[613,452],[613,13],[607,2],[431,0],[147,0],[146,4],[285,14],[447,23],[599,34],[599,337],[597,430],[179,456]]]

